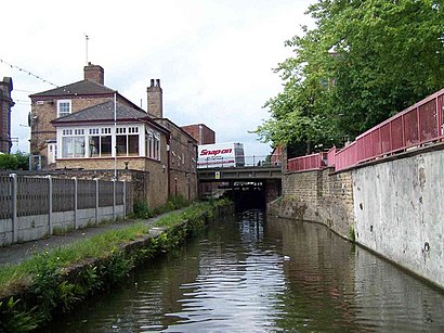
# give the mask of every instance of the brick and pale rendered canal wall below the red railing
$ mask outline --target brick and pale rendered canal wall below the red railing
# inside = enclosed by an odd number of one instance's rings
[[[319,222],[444,289],[444,145],[344,171],[286,172],[269,214]]]

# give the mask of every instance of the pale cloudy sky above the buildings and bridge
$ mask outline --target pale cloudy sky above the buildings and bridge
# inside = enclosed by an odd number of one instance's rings
[[[83,79],[91,62],[104,68],[106,87],[144,110],[151,79],[160,79],[165,117],[205,124],[218,143],[243,142],[245,155],[265,156],[270,143],[250,131],[270,116],[263,105],[283,89],[273,68],[291,56],[285,41],[313,24],[305,12],[314,2],[8,1],[0,79],[14,85],[12,152],[29,152],[28,95]]]

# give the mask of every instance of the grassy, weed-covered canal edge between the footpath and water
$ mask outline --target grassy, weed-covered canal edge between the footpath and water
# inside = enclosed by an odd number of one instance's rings
[[[42,248],[19,264],[1,266],[0,331],[27,332],[69,312],[134,267],[178,247],[211,217],[232,210],[225,201],[197,203],[154,223],[108,226],[87,240]]]

